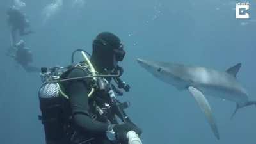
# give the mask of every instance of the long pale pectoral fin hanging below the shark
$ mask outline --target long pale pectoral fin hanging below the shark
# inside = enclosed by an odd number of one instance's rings
[[[203,93],[200,92],[200,90],[194,88],[193,86],[189,86],[188,90],[193,95],[193,97],[195,97],[196,102],[199,104],[200,109],[204,112],[207,121],[211,125],[211,129],[214,135],[219,140],[220,136],[218,132],[218,127],[215,123],[214,117],[212,116],[211,106],[209,105],[207,99],[205,99]]]

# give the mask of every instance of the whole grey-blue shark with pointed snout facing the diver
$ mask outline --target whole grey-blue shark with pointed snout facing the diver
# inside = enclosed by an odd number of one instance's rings
[[[220,139],[218,127],[212,115],[211,106],[204,95],[211,95],[213,97],[236,102],[236,109],[232,117],[239,108],[253,104],[256,106],[256,102],[248,100],[248,93],[243,86],[237,82],[236,75],[241,67],[241,63],[228,68],[225,72],[221,72],[212,68],[195,67],[177,63],[147,61],[142,59],[138,59],[137,61],[141,67],[145,68],[161,81],[171,84],[178,90],[188,90],[205,114],[205,118],[211,126],[212,132],[218,140]]]

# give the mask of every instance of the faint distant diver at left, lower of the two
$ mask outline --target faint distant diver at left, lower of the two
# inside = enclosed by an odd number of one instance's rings
[[[15,47],[9,49],[7,56],[14,58],[14,60],[19,63],[26,72],[40,72],[40,68],[29,65],[29,63],[33,62],[33,56],[31,51],[29,51],[29,48],[25,47],[24,40],[20,40],[20,42],[15,44]]]

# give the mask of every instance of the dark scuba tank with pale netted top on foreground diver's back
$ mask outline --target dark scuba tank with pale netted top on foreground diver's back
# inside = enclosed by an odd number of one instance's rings
[[[44,125],[45,141],[47,144],[51,143],[66,143],[64,121],[63,121],[63,107],[60,97],[60,86],[57,83],[45,83],[47,79],[58,79],[59,74],[62,74],[61,67],[41,68],[41,81],[43,82],[38,91],[38,98],[40,102],[41,116],[38,116]]]

